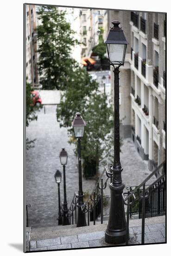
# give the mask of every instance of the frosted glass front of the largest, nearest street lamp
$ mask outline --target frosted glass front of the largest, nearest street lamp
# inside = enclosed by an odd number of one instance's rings
[[[123,62],[124,44],[109,44],[109,59],[110,62]]]

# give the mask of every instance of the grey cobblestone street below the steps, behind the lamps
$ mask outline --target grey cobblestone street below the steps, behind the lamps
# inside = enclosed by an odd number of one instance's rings
[[[74,117],[73,117],[74,118]],[[54,174],[58,168],[62,174],[59,153],[62,148],[68,152],[66,166],[67,201],[70,206],[74,192],[78,190],[77,158],[74,145],[68,143],[66,128],[59,128],[56,119],[56,105],[46,106],[38,112],[38,121],[32,121],[26,128],[26,137],[36,139],[35,147],[26,151],[26,203],[29,226],[45,227],[57,225],[57,184]],[[122,180],[126,186],[136,186],[142,182],[148,170],[147,162],[142,161],[131,139],[123,141],[121,148]],[[101,171],[103,167],[101,167]],[[83,191],[91,192],[95,180],[82,179]],[[63,176],[61,182],[61,199],[63,200]]]

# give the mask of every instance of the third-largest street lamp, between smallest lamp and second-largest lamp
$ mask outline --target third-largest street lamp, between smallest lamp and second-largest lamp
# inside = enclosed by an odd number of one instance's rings
[[[68,154],[63,148],[59,154],[60,162],[63,165],[63,225],[69,225],[67,198],[66,198],[66,176],[65,176],[65,165],[67,164]]]

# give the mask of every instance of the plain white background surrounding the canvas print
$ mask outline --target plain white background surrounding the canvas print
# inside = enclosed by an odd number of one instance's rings
[[[3,0],[0,3],[0,253],[22,254],[23,243],[23,3]],[[56,4],[167,12],[167,111],[171,101],[171,7],[168,0],[35,0],[33,4]],[[171,118],[167,116],[167,141]],[[167,143],[167,244],[99,249],[38,252],[38,255],[164,255],[171,250],[171,146]]]

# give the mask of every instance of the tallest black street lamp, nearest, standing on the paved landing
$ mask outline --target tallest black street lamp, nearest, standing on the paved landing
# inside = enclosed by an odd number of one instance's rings
[[[119,114],[119,67],[124,65],[127,40],[118,20],[112,21],[114,27],[108,32],[108,59],[114,67],[114,163],[111,167],[112,183],[110,184],[111,202],[108,227],[105,231],[105,242],[119,244],[126,242],[126,218],[122,193],[125,185],[122,183],[120,164],[120,114]]]

